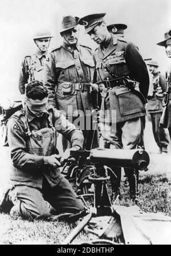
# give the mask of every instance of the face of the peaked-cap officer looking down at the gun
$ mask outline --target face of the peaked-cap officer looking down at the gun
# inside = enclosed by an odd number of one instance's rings
[[[94,40],[97,44],[101,44],[105,40],[105,26],[103,23],[100,25],[97,25],[92,29],[90,32],[88,32],[89,36],[92,40]]]

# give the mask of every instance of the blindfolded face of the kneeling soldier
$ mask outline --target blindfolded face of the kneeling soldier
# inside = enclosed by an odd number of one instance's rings
[[[34,116],[36,117],[41,117],[43,116],[44,112],[46,111],[46,107],[47,107],[47,97],[44,98],[43,100],[33,100],[33,99],[29,99],[30,101],[30,105],[28,106],[29,110],[31,113],[33,113]],[[40,109],[40,108],[37,108],[35,109],[35,105],[43,105],[43,107]],[[32,106],[34,106],[34,108],[32,108]]]

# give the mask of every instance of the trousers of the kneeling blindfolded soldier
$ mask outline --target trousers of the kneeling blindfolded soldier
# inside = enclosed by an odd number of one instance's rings
[[[15,207],[15,214],[35,220],[55,214],[78,213],[83,210],[82,201],[76,198],[76,193],[63,176],[58,185],[51,188],[46,178],[43,179],[42,189],[27,185],[16,185],[9,192],[9,200]],[[13,214],[13,208],[11,209]]]

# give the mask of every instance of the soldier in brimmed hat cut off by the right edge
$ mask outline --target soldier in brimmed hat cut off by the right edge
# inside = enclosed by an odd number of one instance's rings
[[[158,46],[164,46],[166,55],[168,58],[171,58],[171,30],[164,34],[164,40],[160,43],[157,43]],[[169,66],[168,71],[166,72],[166,106],[162,113],[160,120],[160,126],[168,128],[169,135],[171,139],[171,66]]]

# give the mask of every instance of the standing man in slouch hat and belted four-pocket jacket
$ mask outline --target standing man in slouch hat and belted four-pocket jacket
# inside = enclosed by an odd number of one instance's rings
[[[97,125],[86,129],[91,113],[97,108],[97,85],[93,85],[95,64],[92,50],[79,44],[78,17],[63,17],[60,35],[63,43],[51,51],[44,66],[44,84],[49,92],[49,103],[63,111],[76,124],[78,117],[84,135],[83,148],[99,145]],[[86,119],[85,119],[86,116]],[[88,117],[88,118],[89,118]],[[82,122],[83,121],[83,122]],[[85,121],[85,122],[84,122]],[[78,126],[77,126],[78,127]],[[63,149],[66,149],[63,141]]]

